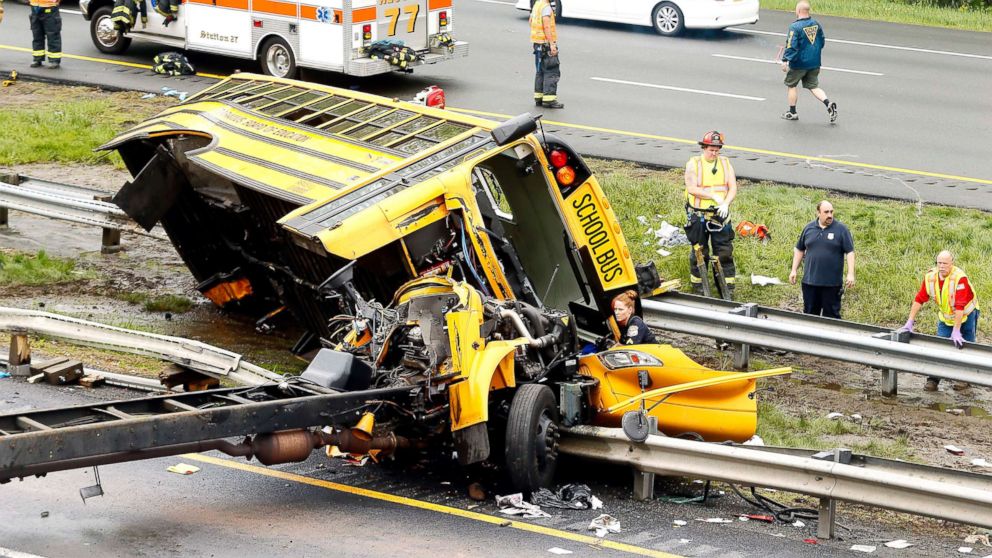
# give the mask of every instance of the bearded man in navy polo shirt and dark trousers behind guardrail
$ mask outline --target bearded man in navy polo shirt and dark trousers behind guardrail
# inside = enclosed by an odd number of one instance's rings
[[[844,259],[847,280],[844,280]],[[844,287],[854,286],[854,239],[840,221],[834,220],[834,206],[823,200],[816,204],[816,219],[803,228],[792,256],[789,282],[796,284],[799,264],[803,272],[803,312],[840,319],[840,298]]]

